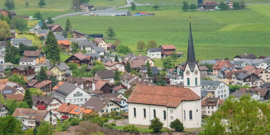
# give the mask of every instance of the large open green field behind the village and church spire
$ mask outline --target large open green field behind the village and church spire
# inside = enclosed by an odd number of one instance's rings
[[[73,29],[86,34],[103,33],[105,36],[107,28],[113,27],[117,34],[115,39],[120,39],[137,55],[146,53],[136,49],[139,40],[146,44],[149,40],[157,41],[158,45],[174,44],[176,51],[184,52],[184,58],[179,60],[182,62],[187,55],[188,20],[191,16],[196,59],[232,59],[244,53],[270,55],[270,8],[267,6],[248,5],[243,10],[207,12],[184,12],[181,6],[161,6],[162,9],[156,11],[151,6],[137,6],[132,13],[144,11],[156,15],[72,16],[69,19]],[[64,27],[66,18],[55,21]],[[115,39],[106,41],[114,43]]]

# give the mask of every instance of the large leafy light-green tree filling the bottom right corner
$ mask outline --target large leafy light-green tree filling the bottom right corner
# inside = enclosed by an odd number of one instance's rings
[[[270,108],[249,96],[229,96],[207,120],[204,134],[269,134]]]

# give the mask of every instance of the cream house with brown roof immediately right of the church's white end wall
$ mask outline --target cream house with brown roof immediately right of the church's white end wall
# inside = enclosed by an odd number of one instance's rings
[[[223,99],[219,98],[206,98],[202,101],[202,115],[211,116],[218,107],[223,103]]]

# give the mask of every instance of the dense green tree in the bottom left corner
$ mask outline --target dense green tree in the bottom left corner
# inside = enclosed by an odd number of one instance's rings
[[[23,134],[21,121],[13,116],[0,117],[0,134]]]

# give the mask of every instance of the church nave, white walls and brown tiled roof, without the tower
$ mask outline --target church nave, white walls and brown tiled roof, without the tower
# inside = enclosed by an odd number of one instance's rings
[[[129,124],[150,125],[158,117],[165,127],[175,119],[186,128],[200,127],[200,99],[189,88],[136,85],[128,98]]]

